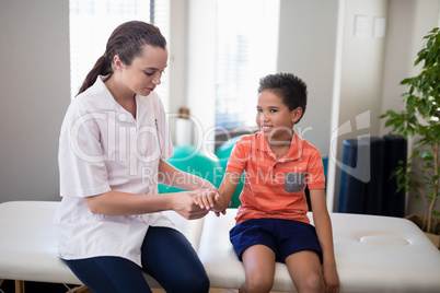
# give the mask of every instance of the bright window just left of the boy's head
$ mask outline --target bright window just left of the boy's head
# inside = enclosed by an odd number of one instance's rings
[[[217,0],[216,127],[255,126],[259,78],[276,71],[278,22],[279,0]]]

